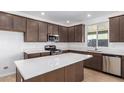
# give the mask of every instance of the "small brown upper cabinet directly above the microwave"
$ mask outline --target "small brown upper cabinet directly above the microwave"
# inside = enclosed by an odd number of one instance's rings
[[[49,35],[58,35],[58,25],[48,23],[48,34]]]

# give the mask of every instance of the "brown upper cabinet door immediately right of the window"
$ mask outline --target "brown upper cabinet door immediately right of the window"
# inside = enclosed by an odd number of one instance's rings
[[[109,19],[110,42],[120,41],[120,17],[113,17]]]

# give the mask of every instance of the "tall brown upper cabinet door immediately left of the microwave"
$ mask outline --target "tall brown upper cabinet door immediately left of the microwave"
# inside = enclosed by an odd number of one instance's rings
[[[39,41],[47,42],[47,23],[39,22]]]

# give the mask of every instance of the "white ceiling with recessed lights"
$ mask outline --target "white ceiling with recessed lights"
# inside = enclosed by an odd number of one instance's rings
[[[115,11],[21,11],[21,12],[38,18],[40,17],[42,19],[49,20],[55,23],[70,25],[80,23],[84,20],[109,15],[111,13],[114,13]],[[41,15],[42,12],[44,12],[45,15]],[[66,22],[67,20],[69,20],[70,23],[67,23]]]

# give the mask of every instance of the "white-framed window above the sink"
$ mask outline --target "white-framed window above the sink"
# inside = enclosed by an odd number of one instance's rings
[[[88,46],[108,46],[108,22],[87,26]]]

